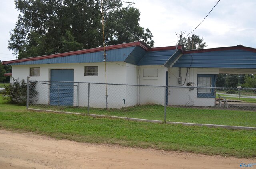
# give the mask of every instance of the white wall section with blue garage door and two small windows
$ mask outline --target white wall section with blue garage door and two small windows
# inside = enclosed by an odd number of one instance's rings
[[[98,66],[98,76],[84,76],[85,66]],[[12,76],[25,79],[29,76],[31,67],[40,67],[40,76],[30,77],[30,80],[50,81],[51,69],[74,69],[75,82],[105,83],[104,63],[74,63],[74,64],[44,64],[44,65],[13,65]],[[137,67],[124,62],[106,64],[107,83],[137,84]],[[77,85],[77,83],[74,83]],[[49,85],[37,84],[39,91],[38,104],[49,104]],[[107,85],[108,108],[121,108],[124,106],[137,105],[137,87],[124,85]],[[77,97],[79,98],[77,102]],[[74,86],[74,106],[88,106],[88,84],[79,83],[79,95],[77,87]],[[106,85],[90,84],[90,107],[105,108]]]

